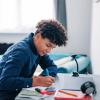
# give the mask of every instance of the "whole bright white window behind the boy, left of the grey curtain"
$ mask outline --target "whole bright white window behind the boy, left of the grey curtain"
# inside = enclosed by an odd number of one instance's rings
[[[54,0],[0,0],[0,33],[33,30],[41,19],[55,19]]]

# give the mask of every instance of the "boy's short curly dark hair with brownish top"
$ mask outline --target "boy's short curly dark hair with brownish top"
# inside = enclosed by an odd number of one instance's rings
[[[41,33],[43,38],[47,38],[50,42],[57,46],[66,45],[67,31],[64,26],[56,20],[41,20],[37,26],[35,34]]]

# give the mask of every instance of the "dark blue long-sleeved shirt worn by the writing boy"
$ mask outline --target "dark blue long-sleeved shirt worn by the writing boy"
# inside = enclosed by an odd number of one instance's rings
[[[0,95],[17,93],[22,88],[32,86],[32,76],[39,64],[48,68],[49,74],[57,74],[57,66],[48,55],[40,56],[31,33],[24,40],[12,45],[0,60]],[[34,80],[33,80],[34,82]],[[3,92],[2,92],[3,91]]]

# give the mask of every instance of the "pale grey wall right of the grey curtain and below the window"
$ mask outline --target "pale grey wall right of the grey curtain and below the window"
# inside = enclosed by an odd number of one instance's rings
[[[53,52],[90,54],[90,28],[92,0],[66,0],[68,45]],[[18,41],[26,34],[0,34],[0,42]]]

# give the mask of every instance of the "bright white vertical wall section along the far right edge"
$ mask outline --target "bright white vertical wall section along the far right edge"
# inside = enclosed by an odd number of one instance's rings
[[[92,8],[91,59],[93,73],[100,74],[100,2],[93,2]]]

